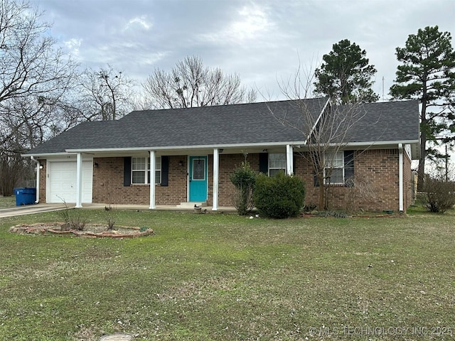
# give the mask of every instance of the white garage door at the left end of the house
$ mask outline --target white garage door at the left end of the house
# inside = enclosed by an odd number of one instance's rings
[[[82,203],[92,202],[93,161],[82,161]],[[47,202],[76,202],[76,163],[48,162]]]

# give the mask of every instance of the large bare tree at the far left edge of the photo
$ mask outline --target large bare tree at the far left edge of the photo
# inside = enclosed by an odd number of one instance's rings
[[[0,177],[11,195],[28,173],[21,153],[43,141],[45,110],[72,86],[75,63],[56,48],[42,12],[26,1],[0,0]]]

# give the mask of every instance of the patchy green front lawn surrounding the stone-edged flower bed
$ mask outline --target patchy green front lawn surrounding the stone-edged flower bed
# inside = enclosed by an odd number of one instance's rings
[[[105,222],[101,210],[80,210]],[[454,215],[248,219],[116,211],[154,236],[9,233],[0,340],[453,340]]]

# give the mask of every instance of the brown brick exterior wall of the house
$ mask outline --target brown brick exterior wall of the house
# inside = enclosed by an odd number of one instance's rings
[[[355,151],[355,185],[348,188],[333,185],[328,188],[328,197],[333,209],[343,210],[399,210],[398,150],[380,149]],[[244,160],[242,154],[220,154],[218,182],[218,205],[232,206],[235,193],[230,174]],[[247,161],[253,170],[259,171],[259,154],[249,154]],[[40,177],[41,202],[45,201],[45,160],[40,160],[43,169]],[[105,204],[149,205],[149,185],[124,186],[124,158],[94,158],[98,164],[93,169],[92,202]],[[182,166],[179,163],[183,163]],[[404,206],[412,203],[411,160],[403,153]],[[187,198],[187,156],[170,156],[168,186],[156,185],[156,205],[178,205]],[[313,169],[306,158],[296,154],[294,173],[306,184],[305,203],[319,202],[319,187],[314,185]],[[213,155],[208,156],[208,205],[213,204]]]

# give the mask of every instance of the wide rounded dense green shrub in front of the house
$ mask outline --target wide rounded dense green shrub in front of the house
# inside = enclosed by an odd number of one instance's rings
[[[304,204],[305,185],[300,178],[283,172],[272,177],[259,174],[253,197],[261,215],[272,218],[295,217]]]

